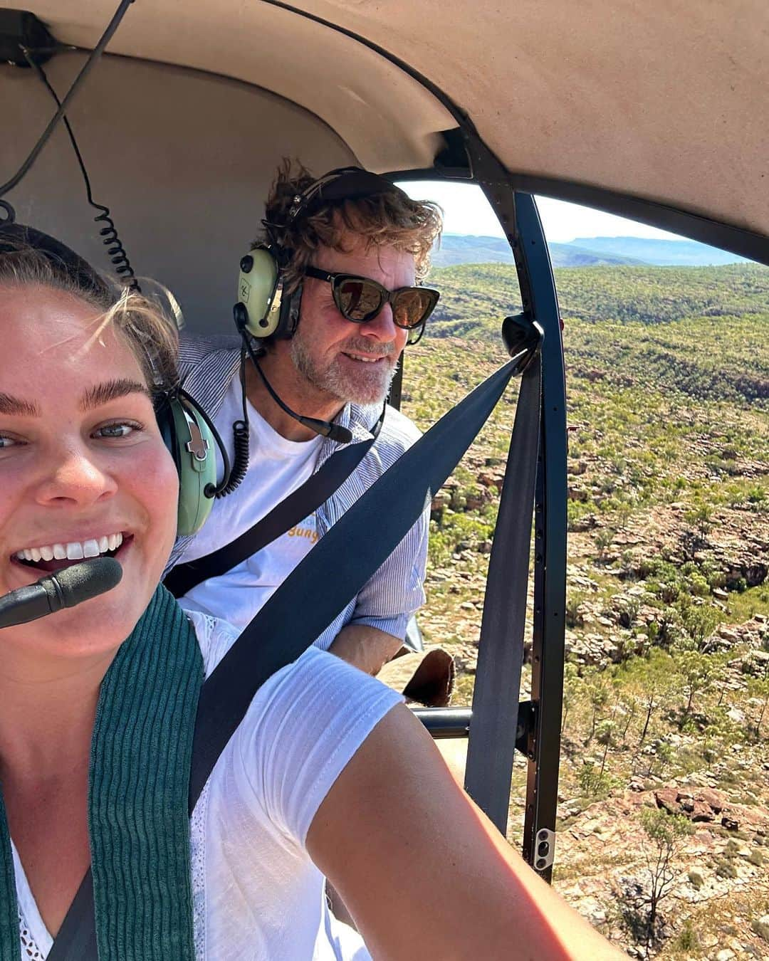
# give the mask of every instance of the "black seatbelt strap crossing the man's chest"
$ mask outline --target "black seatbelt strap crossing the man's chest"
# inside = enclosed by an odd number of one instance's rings
[[[372,437],[337,451],[315,474],[232,543],[205,557],[179,564],[169,571],[163,580],[165,586],[174,597],[184,597],[187,591],[191,591],[204,580],[221,577],[267,544],[271,544],[276,537],[285,534],[286,530],[295,527],[328,501],[358,467],[373,443]]]

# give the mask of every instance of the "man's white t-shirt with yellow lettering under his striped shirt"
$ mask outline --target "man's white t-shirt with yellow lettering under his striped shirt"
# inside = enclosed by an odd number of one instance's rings
[[[216,502],[215,514],[190,542],[180,563],[204,557],[234,541],[308,480],[315,469],[322,437],[307,441],[286,440],[270,427],[255,407],[248,402],[247,405],[250,425],[248,474],[232,494]],[[239,378],[236,378],[214,420],[216,430],[227,445],[231,462],[234,456],[233,422],[242,420],[242,417],[242,393]],[[218,469],[221,477],[221,460]],[[184,604],[193,610],[220,617],[242,630],[317,539],[315,515],[312,514],[227,574],[204,580],[193,587],[186,594]]]

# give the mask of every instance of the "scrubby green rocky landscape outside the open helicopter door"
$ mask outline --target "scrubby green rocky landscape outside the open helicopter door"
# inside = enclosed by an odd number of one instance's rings
[[[556,275],[570,426],[559,818],[589,825],[607,805],[622,803],[622,815],[611,810],[637,838],[646,808],[621,800],[629,786],[648,798],[688,783],[765,811],[769,270],[589,267]],[[504,362],[500,321],[518,308],[514,268],[504,264],[446,268],[433,281],[443,291],[435,320],[406,358],[404,409],[422,428]],[[455,702],[472,697],[513,415],[510,390],[435,503],[429,602],[419,619],[428,643],[457,654]],[[519,759],[510,801],[515,841],[525,778]],[[712,878],[717,906],[665,900],[665,923],[650,943],[661,958],[715,957],[733,940],[732,914],[769,913],[762,855],[727,856],[736,828],[707,829],[712,855],[682,864],[674,850],[671,863],[675,884],[698,897],[711,897],[703,876]],[[589,860],[571,861],[572,849],[557,856],[558,886],[579,906],[574,885],[603,881],[607,919],[592,920],[608,933],[623,872],[636,872],[638,903],[648,899],[639,844],[620,838],[609,848],[602,835]],[[748,863],[756,872],[750,897],[748,888],[729,887]],[[647,900],[644,918],[648,909]],[[622,924],[616,937],[628,945]],[[642,924],[636,946],[643,948],[645,935]]]

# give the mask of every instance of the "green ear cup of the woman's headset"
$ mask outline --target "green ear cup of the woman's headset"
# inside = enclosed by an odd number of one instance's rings
[[[213,497],[206,488],[216,485],[216,445],[211,430],[183,398],[168,405],[171,421],[166,440],[179,471],[177,534],[194,534],[211,513]]]

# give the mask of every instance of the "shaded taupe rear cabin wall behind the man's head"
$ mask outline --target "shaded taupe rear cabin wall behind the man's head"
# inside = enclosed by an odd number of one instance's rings
[[[50,62],[60,94],[83,60]],[[256,87],[120,57],[105,58],[89,81],[70,119],[94,199],[112,210],[136,274],[174,292],[190,329],[230,333],[237,263],[277,164],[296,157],[321,173],[356,158],[317,117]],[[56,106],[32,71],[0,67],[0,89],[7,180]],[[6,199],[20,221],[111,266],[62,127]]]

